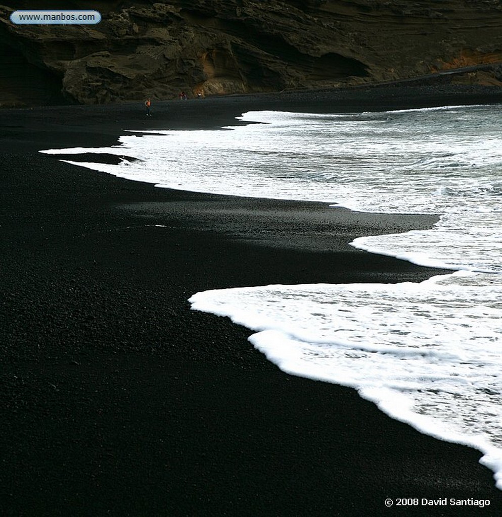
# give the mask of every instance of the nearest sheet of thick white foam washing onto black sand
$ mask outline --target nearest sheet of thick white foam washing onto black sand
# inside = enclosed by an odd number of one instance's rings
[[[502,489],[502,276],[484,286],[480,276],[233,288],[189,301],[258,331],[250,341],[280,369],[356,388],[393,418],[479,449]]]

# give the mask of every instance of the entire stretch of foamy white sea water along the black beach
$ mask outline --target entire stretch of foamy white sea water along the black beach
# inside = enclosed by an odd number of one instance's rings
[[[450,275],[249,286],[189,301],[256,331],[250,341],[284,371],[351,386],[423,433],[479,449],[502,489],[501,115],[500,105],[248,112],[244,126],[132,130],[110,148],[42,152],[134,157],[75,163],[160,187],[438,214],[430,230],[351,244]]]

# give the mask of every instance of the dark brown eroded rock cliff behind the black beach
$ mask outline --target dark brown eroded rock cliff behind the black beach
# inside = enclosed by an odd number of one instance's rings
[[[30,8],[17,3],[15,8]],[[102,103],[325,88],[502,62],[498,0],[65,2],[97,25],[13,25],[0,102]],[[495,68],[461,79],[498,84]]]

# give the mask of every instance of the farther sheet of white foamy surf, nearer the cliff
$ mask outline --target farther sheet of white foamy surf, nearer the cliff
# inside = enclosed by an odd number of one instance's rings
[[[500,107],[383,113],[248,112],[222,130],[125,135],[122,163],[73,162],[159,187],[336,203],[352,210],[439,214],[427,232],[362,237],[353,245],[420,265],[502,271]]]

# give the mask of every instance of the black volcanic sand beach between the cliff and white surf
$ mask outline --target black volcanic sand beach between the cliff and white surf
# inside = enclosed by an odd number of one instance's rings
[[[499,516],[478,451],[284,374],[247,329],[187,302],[211,288],[424,280],[440,271],[347,243],[433,218],[169,191],[37,153],[249,110],[488,102],[502,93],[409,85],[154,102],[147,119],[140,102],[0,112],[0,514]]]

